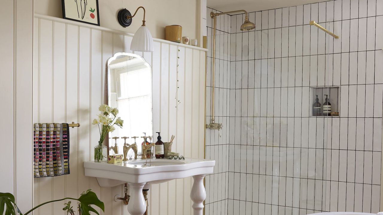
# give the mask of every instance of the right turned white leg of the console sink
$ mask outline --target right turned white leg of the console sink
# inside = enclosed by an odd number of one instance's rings
[[[205,187],[203,186],[203,178],[205,175],[193,176],[193,187],[191,187],[190,198],[193,201],[193,214],[202,215],[203,214],[203,201],[206,198]]]

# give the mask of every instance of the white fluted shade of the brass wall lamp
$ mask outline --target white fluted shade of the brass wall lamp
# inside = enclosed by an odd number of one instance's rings
[[[153,37],[146,26],[141,26],[133,36],[130,50],[139,52],[153,52]]]

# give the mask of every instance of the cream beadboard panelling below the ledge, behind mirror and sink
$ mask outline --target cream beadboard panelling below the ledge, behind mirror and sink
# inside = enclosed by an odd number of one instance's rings
[[[37,17],[34,23],[39,24],[34,33],[34,46],[38,48],[34,55],[37,64],[34,67],[34,94],[39,95],[33,99],[38,108],[34,110],[34,122],[75,121],[81,124],[81,127],[70,130],[71,174],[36,179],[34,204],[75,197],[92,188],[104,202],[105,214],[126,214],[126,207],[112,199],[112,196],[122,194],[122,186],[99,187],[95,178],[83,175],[82,163],[92,160],[93,147],[99,138],[91,120],[98,114],[98,106],[105,101],[106,60],[115,52],[130,52],[131,35],[49,17]],[[176,150],[183,155],[203,158],[206,52],[157,39],[154,46],[155,52],[143,55],[151,64],[153,73],[153,129],[165,132],[167,138],[175,134]],[[177,52],[180,57],[178,99],[181,103],[175,110]],[[149,214],[176,214],[179,210],[191,214],[188,198],[191,182],[186,178],[169,182],[169,185],[152,185]],[[172,196],[168,197],[167,193]],[[47,204],[35,213],[62,213],[62,203]]]

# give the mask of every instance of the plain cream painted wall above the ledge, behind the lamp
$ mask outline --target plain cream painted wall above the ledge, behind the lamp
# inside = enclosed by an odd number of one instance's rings
[[[139,6],[143,6],[146,9],[146,26],[154,38],[165,39],[165,26],[171,24],[183,27],[182,36],[197,38],[197,21],[200,21],[197,16],[201,10],[197,1],[199,0],[98,0],[100,26],[135,33],[142,24],[142,9],[127,28],[119,25],[117,13],[126,8],[133,14]],[[61,0],[37,0],[34,4],[35,13],[62,18]],[[203,7],[206,7],[206,3]]]

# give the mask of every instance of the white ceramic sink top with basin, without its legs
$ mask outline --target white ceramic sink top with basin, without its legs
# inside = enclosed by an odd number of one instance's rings
[[[137,159],[122,163],[84,162],[85,176],[96,177],[101,187],[114,187],[126,182],[158,184],[172,179],[213,173],[215,161],[185,158]]]

